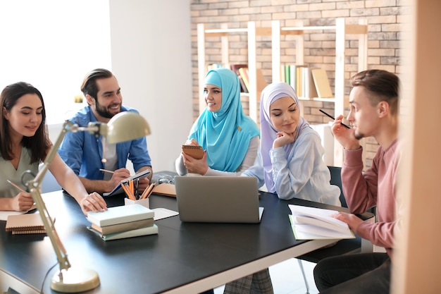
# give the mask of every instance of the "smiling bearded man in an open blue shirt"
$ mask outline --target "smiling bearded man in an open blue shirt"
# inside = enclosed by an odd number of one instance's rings
[[[87,126],[91,121],[108,123],[121,111],[138,113],[135,109],[123,106],[118,80],[106,69],[97,68],[87,73],[82,82],[81,91],[88,105],[70,118],[70,121],[77,125]],[[145,137],[109,144],[103,136],[97,138],[85,132],[67,133],[58,148],[58,154],[80,176],[87,191],[111,192],[120,180],[130,176],[130,171],[125,168],[128,159],[132,161],[137,173],[144,169],[151,170]],[[105,162],[103,159],[106,159]],[[114,173],[104,173],[101,169],[114,171]],[[147,188],[151,176],[152,173],[139,180],[139,192]]]

